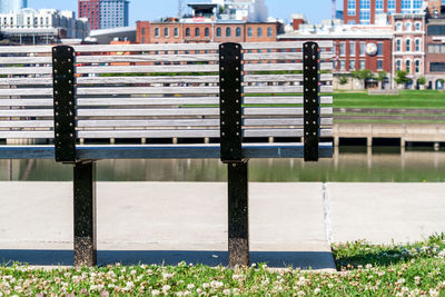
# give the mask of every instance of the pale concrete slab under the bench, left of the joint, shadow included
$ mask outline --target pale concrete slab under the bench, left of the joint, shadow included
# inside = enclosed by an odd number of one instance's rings
[[[72,264],[71,182],[0,182],[0,260]],[[322,184],[249,184],[251,261],[332,269]],[[227,185],[98,182],[98,261],[227,265]]]

